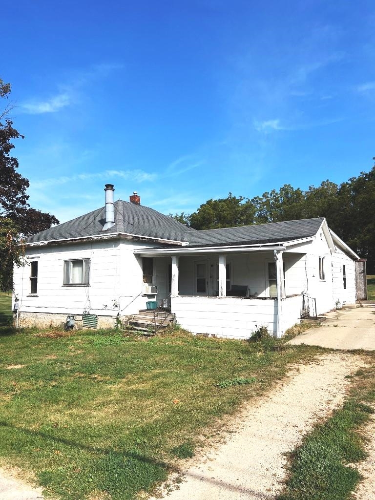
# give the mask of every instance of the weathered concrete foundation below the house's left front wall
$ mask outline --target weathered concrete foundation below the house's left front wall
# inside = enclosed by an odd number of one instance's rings
[[[82,314],[72,314],[75,329],[82,329]],[[59,328],[65,326],[68,314],[50,312],[18,312],[18,327]],[[122,318],[121,318],[122,319]],[[97,316],[97,328],[114,328],[116,316]],[[16,325],[16,313],[13,313],[13,326]],[[92,328],[88,328],[92,329]]]

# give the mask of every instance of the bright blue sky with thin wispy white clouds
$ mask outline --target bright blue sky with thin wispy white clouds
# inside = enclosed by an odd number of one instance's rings
[[[163,213],[372,167],[373,1],[1,7],[31,206],[65,221],[135,190]]]

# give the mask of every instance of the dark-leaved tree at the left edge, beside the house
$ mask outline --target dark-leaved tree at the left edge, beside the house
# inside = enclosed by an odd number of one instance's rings
[[[10,84],[0,78],[0,97],[7,99]],[[19,264],[22,252],[21,236],[47,229],[58,220],[49,213],[31,208],[26,189],[28,180],[18,173],[18,160],[11,156],[12,140],[23,138],[9,118],[12,105],[0,111],[0,287],[11,283],[12,262]]]

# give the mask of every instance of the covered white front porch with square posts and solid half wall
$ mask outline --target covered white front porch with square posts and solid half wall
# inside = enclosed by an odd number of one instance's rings
[[[262,325],[280,337],[299,321],[302,254],[280,246],[220,250],[139,251],[153,259],[154,283],[170,296],[178,324],[192,333],[249,338]]]

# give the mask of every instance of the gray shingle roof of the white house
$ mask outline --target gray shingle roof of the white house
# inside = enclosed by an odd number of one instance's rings
[[[322,217],[317,217],[196,231],[147,206],[118,200],[114,202],[114,226],[106,231],[102,231],[105,222],[105,207],[102,206],[68,222],[28,236],[26,243],[121,232],[155,239],[184,241],[188,242],[190,247],[221,244],[261,244],[313,236],[323,220]]]

